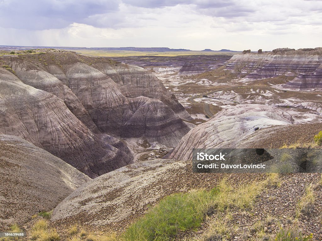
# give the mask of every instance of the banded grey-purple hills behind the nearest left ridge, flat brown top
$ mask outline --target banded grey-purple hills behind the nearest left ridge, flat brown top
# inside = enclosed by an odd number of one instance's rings
[[[166,125],[176,129],[175,136],[182,137],[190,130],[181,120],[191,120],[184,107],[144,69],[71,52],[51,54],[50,58],[49,54],[38,57],[46,61],[43,66],[30,57],[10,58],[10,63],[20,80],[64,100],[73,114],[93,132],[121,138],[142,137],[149,142],[174,146],[176,143],[162,137],[165,123],[159,116],[165,112]],[[159,110],[154,109],[155,105]],[[142,112],[143,109],[149,112]],[[136,113],[137,110],[141,113]],[[133,120],[137,117],[138,120]],[[158,130],[157,135],[148,131],[151,126]],[[138,129],[136,135],[129,134],[133,133],[129,127]],[[141,134],[137,136],[137,133]]]

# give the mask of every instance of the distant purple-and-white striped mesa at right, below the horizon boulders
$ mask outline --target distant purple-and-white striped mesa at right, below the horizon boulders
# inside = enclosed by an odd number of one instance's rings
[[[234,55],[225,65],[243,82],[292,74],[295,78],[283,88],[311,90],[321,89],[321,56],[321,48],[275,49],[272,53]]]

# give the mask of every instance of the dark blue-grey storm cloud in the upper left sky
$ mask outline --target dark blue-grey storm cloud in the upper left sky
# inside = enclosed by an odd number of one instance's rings
[[[117,0],[2,0],[0,26],[4,28],[59,29],[84,22],[94,14],[118,10]]]

